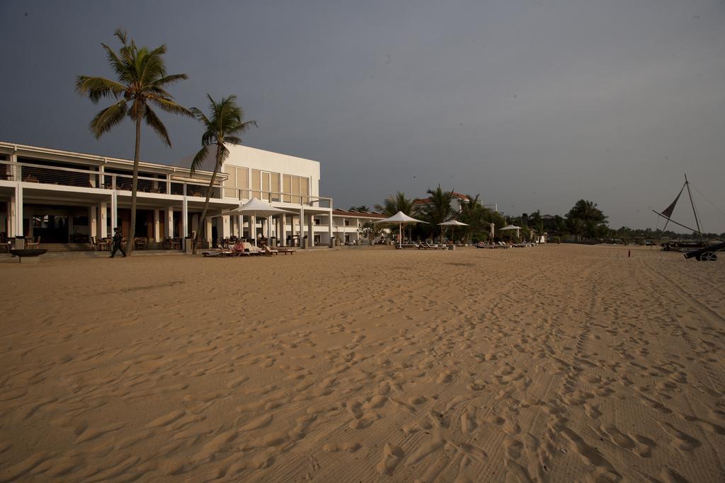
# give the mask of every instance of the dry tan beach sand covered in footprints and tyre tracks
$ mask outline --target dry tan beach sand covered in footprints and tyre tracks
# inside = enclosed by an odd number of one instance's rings
[[[725,260],[0,260],[0,481],[725,481]]]

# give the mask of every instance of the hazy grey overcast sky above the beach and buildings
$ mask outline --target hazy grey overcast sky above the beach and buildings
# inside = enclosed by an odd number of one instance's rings
[[[133,158],[130,122],[96,140],[104,104],[74,91],[113,76],[116,28],[167,45],[180,104],[236,94],[259,126],[244,144],[320,161],[336,207],[441,185],[657,228],[687,173],[703,229],[725,232],[724,0],[0,0],[0,140]],[[198,151],[198,122],[162,120],[173,147],[146,129],[144,161]],[[689,203],[673,218],[691,226]]]

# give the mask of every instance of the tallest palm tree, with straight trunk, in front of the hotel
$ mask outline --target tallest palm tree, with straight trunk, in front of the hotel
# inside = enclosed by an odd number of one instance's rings
[[[126,117],[136,124],[136,149],[133,151],[133,180],[131,182],[131,224],[128,230],[126,253],[133,251],[133,240],[136,237],[136,192],[138,190],[138,160],[141,152],[141,121],[146,122],[159,135],[159,138],[171,146],[166,127],[157,117],[152,105],[172,114],[191,116],[186,107],[173,101],[173,96],[165,91],[167,85],[186,79],[186,74],[167,75],[163,55],[166,46],[162,45],[149,51],[146,47],[137,47],[123,30],[117,29],[114,34],[121,42],[121,49],[116,53],[105,43],[101,43],[112,70],[118,80],[104,77],[79,75],[75,79],[75,90],[86,95],[98,104],[104,97],[115,98],[116,102],[96,114],[91,121],[91,133],[99,139]]]

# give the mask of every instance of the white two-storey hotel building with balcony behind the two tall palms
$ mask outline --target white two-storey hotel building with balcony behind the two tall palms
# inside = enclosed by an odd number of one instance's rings
[[[212,173],[192,176],[188,167],[141,162],[136,237],[145,238],[147,248],[169,248],[170,240],[181,248],[194,231],[207,245],[232,235],[302,246],[329,245],[333,237],[344,241],[343,234],[356,237],[355,215],[333,216],[332,199],[320,196],[318,161],[247,146],[230,151],[212,188],[204,227],[199,217]],[[90,250],[115,227],[128,235],[132,169],[128,159],[0,142],[0,237],[40,238],[41,248],[63,251]],[[289,214],[215,216],[252,197]],[[354,227],[348,218],[355,219]]]

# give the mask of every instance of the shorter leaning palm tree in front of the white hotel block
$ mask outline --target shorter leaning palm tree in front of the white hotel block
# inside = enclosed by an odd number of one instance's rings
[[[241,144],[241,138],[238,134],[244,133],[249,127],[257,126],[256,121],[242,121],[244,119],[244,111],[241,107],[236,105],[236,96],[223,97],[219,102],[212,99],[212,96],[207,94],[209,99],[209,108],[211,112],[211,119],[206,117],[203,112],[196,107],[191,108],[191,112],[194,113],[196,119],[199,119],[204,124],[204,134],[202,134],[202,148],[196,153],[194,159],[191,161],[191,174],[194,175],[196,169],[201,167],[207,155],[209,154],[209,147],[215,145],[216,148],[216,162],[214,164],[214,172],[212,173],[212,179],[209,180],[209,188],[207,189],[207,199],[204,201],[204,209],[202,209],[202,219],[199,221],[199,227],[204,226],[204,222],[207,219],[207,209],[209,209],[209,198],[214,188],[214,182],[217,177],[219,169],[222,167],[223,161],[229,156],[229,149],[225,146],[226,144],[239,145]],[[199,239],[199,232],[197,230],[194,236],[194,251],[196,253],[196,240]]]

